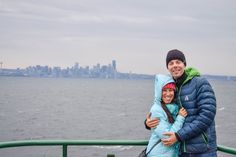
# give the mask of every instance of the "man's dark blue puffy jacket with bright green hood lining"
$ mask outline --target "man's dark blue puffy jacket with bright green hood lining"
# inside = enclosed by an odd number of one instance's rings
[[[209,82],[193,68],[186,69],[187,79],[178,89],[178,104],[188,116],[177,132],[181,152],[203,153],[217,149],[215,114],[216,99]]]

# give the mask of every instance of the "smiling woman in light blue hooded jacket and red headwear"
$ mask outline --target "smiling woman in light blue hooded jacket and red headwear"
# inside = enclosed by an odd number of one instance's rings
[[[184,123],[187,112],[184,108],[179,110],[175,101],[176,86],[172,77],[157,75],[155,79],[155,100],[151,108],[151,118],[158,118],[159,125],[152,129],[147,151],[148,157],[177,157],[179,144],[171,147],[158,143],[161,139],[167,138],[164,132],[178,131]],[[156,146],[154,146],[158,143]],[[154,147],[153,147],[154,146]],[[152,149],[153,148],[153,149]]]

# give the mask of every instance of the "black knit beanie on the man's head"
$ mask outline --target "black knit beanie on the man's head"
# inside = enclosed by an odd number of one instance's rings
[[[184,56],[183,52],[181,52],[177,49],[170,50],[166,56],[166,67],[167,68],[168,68],[168,63],[173,59],[181,60],[184,63],[184,65],[186,66],[186,60],[185,60],[185,56]]]

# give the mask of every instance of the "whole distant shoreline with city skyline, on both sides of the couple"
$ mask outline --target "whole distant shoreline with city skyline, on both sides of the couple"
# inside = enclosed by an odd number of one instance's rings
[[[2,64],[0,62],[0,64]],[[29,71],[35,70],[36,74],[29,75]],[[42,70],[43,69],[43,70]],[[46,70],[45,70],[46,69]],[[107,72],[108,69],[108,72]],[[50,76],[38,75],[38,72],[41,71],[60,71],[61,76]],[[77,70],[77,71],[76,71]],[[69,71],[73,72],[82,72],[85,73],[84,76],[76,74],[76,76],[66,76],[64,75],[65,72],[68,73]],[[26,73],[27,72],[27,73]],[[104,73],[105,72],[105,73]],[[94,76],[96,73],[103,73],[102,76]],[[89,75],[87,75],[89,74]],[[105,75],[104,75],[105,74]],[[57,74],[58,75],[58,74]],[[63,76],[64,75],[64,76]],[[88,65],[80,65],[79,62],[75,62],[74,65],[67,66],[67,67],[60,67],[60,66],[48,66],[48,65],[29,65],[26,68],[2,68],[0,67],[0,76],[28,76],[28,77],[78,77],[78,78],[125,78],[125,79],[153,79],[156,74],[145,74],[145,73],[134,73],[132,71],[124,72],[117,70],[117,63],[116,60],[112,60],[110,63],[106,65],[102,65],[100,63],[96,63],[92,66]],[[202,74],[204,77],[209,79],[220,79],[220,80],[236,80],[235,75],[213,75],[213,74]]]

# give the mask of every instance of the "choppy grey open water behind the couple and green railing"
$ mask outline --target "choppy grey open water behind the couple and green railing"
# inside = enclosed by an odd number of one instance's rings
[[[236,148],[236,81],[210,83],[217,97],[218,144]],[[153,94],[153,80],[0,77],[0,141],[149,139],[143,122]],[[68,157],[136,157],[143,148],[73,146]],[[0,157],[58,156],[57,146],[0,149]]]

